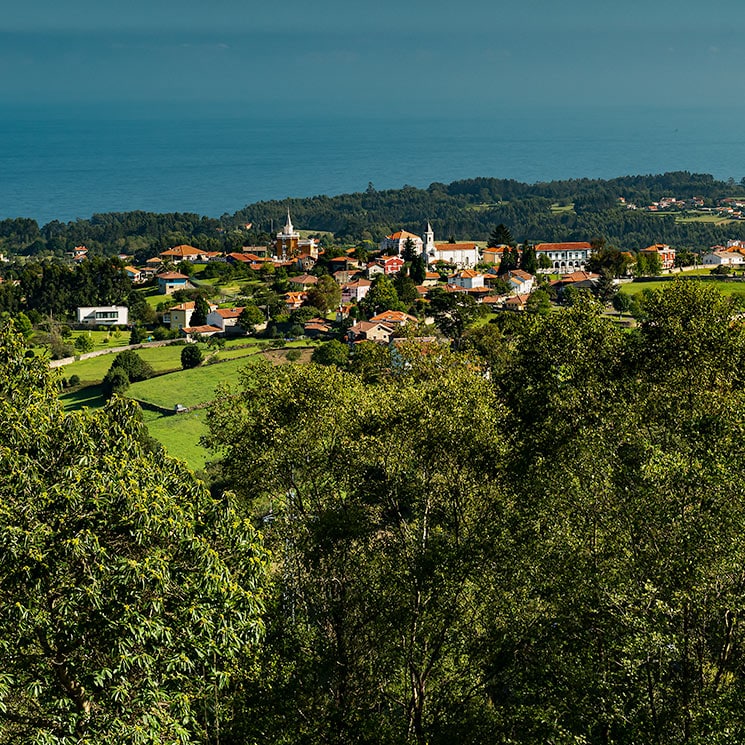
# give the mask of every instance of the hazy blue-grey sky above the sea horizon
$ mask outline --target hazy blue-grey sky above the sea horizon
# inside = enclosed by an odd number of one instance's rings
[[[742,109],[744,53],[743,0],[26,0],[0,17],[0,101]]]

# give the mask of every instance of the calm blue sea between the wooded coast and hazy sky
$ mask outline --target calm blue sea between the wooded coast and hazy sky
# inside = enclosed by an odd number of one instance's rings
[[[745,176],[729,109],[537,110],[450,118],[0,108],[0,218],[212,217],[266,199],[475,176],[536,182],[688,170]]]

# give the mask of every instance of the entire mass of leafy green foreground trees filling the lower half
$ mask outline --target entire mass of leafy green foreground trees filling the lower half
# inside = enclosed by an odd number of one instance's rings
[[[0,743],[742,742],[745,326],[601,311],[247,367],[209,490],[6,328]]]

